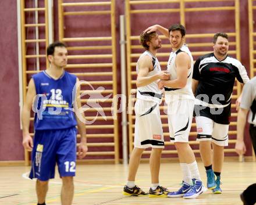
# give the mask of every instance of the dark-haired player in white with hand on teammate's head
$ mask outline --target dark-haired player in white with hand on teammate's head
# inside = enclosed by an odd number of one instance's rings
[[[165,102],[168,105],[168,125],[170,141],[175,143],[180,167],[182,168],[182,187],[168,197],[194,199],[206,188],[202,184],[195,161],[194,152],[189,145],[189,133],[193,118],[194,95],[191,89],[193,75],[193,57],[184,44],[186,29],[181,24],[173,24],[169,29],[154,25],[144,32],[160,31],[170,39],[172,52],[168,60],[167,71],[170,80],[158,82],[159,89],[165,89]]]

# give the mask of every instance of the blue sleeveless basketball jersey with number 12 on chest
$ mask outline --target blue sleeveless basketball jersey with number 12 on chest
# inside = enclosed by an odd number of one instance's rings
[[[33,104],[34,130],[59,130],[76,126],[73,111],[76,75],[64,71],[63,75],[55,80],[42,71],[32,78],[37,93]]]

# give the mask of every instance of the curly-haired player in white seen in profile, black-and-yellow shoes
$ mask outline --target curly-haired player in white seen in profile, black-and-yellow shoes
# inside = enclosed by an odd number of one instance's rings
[[[159,80],[167,80],[170,75],[161,71],[156,56],[161,48],[161,39],[155,32],[140,35],[140,43],[145,52],[137,62],[137,100],[134,105],[136,114],[134,130],[134,149],[129,161],[127,184],[123,188],[126,196],[166,197],[168,190],[159,185],[159,169],[162,149],[164,148],[163,129],[159,112],[162,91],[158,89]],[[135,185],[135,177],[144,149],[152,148],[150,171],[152,186],[146,193]]]

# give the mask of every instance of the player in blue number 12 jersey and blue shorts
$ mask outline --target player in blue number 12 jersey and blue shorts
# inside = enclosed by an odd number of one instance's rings
[[[64,70],[67,64],[64,44],[55,42],[49,45],[47,57],[49,68],[33,75],[29,82],[22,109],[23,146],[32,150],[29,177],[37,178],[38,205],[45,204],[49,179],[55,175],[55,164],[58,164],[62,178],[61,203],[70,205],[76,171],[76,125],[81,135],[79,159],[86,156],[87,152],[86,127],[73,112],[73,109],[81,107],[80,98],[72,95],[73,89],[79,95],[79,80]],[[73,103],[76,105],[73,106]],[[34,117],[34,141],[29,133],[32,106],[34,111],[37,110]]]

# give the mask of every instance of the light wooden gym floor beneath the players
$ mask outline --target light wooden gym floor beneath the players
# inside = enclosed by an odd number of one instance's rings
[[[202,163],[198,163],[202,180],[206,176]],[[0,167],[0,204],[22,205],[37,204],[35,181],[27,178],[30,167]],[[250,184],[256,182],[255,162],[225,162],[222,172],[221,195],[214,195],[210,190],[197,199],[170,199],[149,197],[126,197],[122,195],[123,185],[126,182],[127,166],[122,164],[86,164],[77,166],[77,175],[74,178],[75,190],[73,204],[87,205],[216,205],[242,204],[240,193]],[[179,164],[176,162],[162,163],[160,182],[169,190],[176,190],[182,181]],[[136,184],[148,190],[150,187],[150,171],[148,163],[141,163]],[[61,204],[61,179],[55,175],[49,184],[47,204]]]

